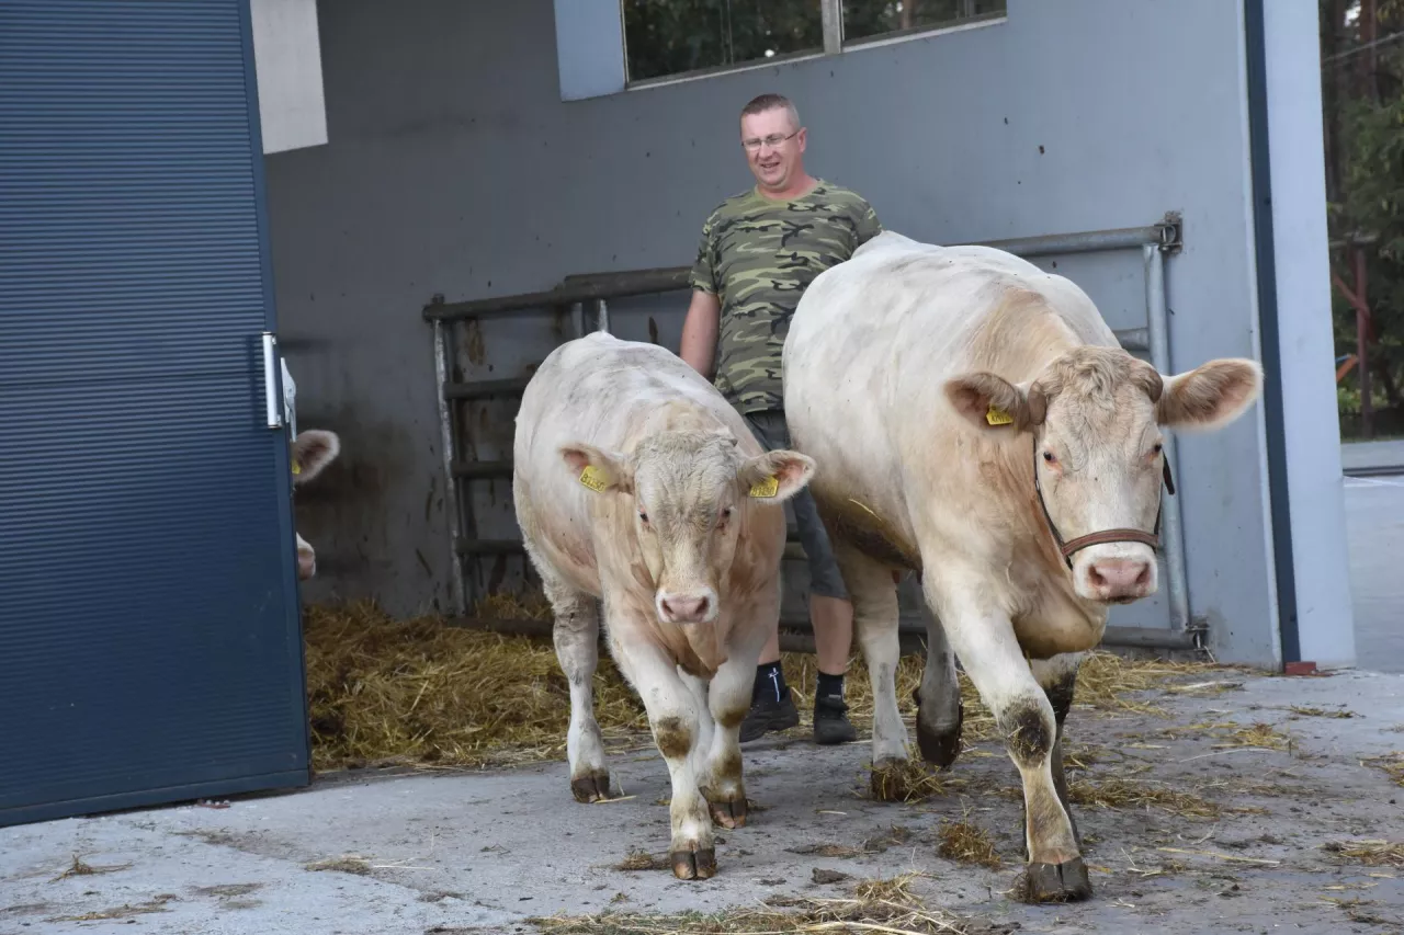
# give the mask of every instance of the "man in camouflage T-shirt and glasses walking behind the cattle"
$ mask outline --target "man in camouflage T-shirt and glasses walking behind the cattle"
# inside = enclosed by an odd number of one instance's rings
[[[762,94],[741,110],[741,147],[755,187],[702,226],[680,357],[715,383],[767,449],[788,448],[781,352],[800,295],[820,272],[882,232],[859,195],[804,171],[806,131],[789,100]],[[809,556],[809,612],[819,650],[814,740],[856,738],[844,703],[854,608],[809,490],[790,503]],[[778,625],[778,622],[776,622]],[[741,741],[799,724],[781,671],[779,630],[761,651]]]

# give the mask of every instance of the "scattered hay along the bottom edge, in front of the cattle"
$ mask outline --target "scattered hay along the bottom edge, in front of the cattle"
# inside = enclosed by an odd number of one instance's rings
[[[845,898],[772,897],[757,908],[703,915],[553,915],[529,918],[545,935],[717,935],[720,932],[886,932],[887,935],[977,935],[1007,927],[928,908],[910,889],[915,875],[858,883]]]

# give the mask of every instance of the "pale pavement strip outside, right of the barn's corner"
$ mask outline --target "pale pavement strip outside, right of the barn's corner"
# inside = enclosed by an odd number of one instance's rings
[[[1345,521],[1356,658],[1404,672],[1404,475],[1346,477]]]

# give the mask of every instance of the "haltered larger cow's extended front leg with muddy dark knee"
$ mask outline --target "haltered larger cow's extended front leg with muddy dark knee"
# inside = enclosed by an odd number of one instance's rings
[[[931,567],[931,566],[928,566]],[[1024,782],[1024,896],[1033,903],[1082,900],[1092,894],[1073,823],[1053,783],[1057,722],[1047,695],[1024,658],[1014,625],[991,606],[973,569],[946,566],[938,583],[928,574],[927,598],[941,615],[946,636],[994,713],[1009,758]]]

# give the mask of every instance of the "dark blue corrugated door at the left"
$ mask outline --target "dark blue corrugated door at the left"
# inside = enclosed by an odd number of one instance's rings
[[[0,824],[307,781],[249,0],[0,0]]]

